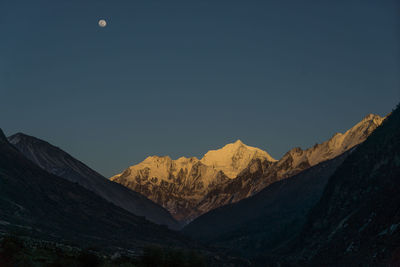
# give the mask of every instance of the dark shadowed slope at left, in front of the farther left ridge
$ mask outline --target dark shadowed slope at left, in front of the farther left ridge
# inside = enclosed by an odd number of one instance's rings
[[[149,243],[190,245],[176,232],[38,167],[12,146],[1,130],[0,231],[81,247],[135,250]]]

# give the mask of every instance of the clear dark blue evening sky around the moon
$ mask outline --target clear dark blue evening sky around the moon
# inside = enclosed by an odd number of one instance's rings
[[[0,127],[106,176],[236,139],[280,158],[399,102],[396,2],[3,0]]]

